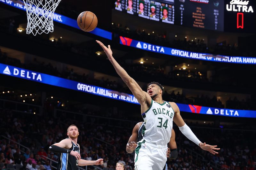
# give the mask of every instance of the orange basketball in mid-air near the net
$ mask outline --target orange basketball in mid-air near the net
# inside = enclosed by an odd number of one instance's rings
[[[98,19],[91,11],[84,11],[77,18],[77,25],[85,32],[90,32],[96,28]]]

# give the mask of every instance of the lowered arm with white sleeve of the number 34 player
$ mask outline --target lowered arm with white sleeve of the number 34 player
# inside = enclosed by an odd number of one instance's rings
[[[218,153],[218,152],[214,151],[214,150],[220,150],[220,148],[216,148],[217,145],[212,146],[212,145],[209,145],[209,144],[202,143],[196,137],[196,135],[192,132],[192,130],[188,127],[188,125],[182,119],[182,117],[180,115],[180,109],[177,106],[177,104],[174,103],[174,102],[169,102],[169,104],[172,106],[172,108],[175,112],[174,117],[173,117],[173,122],[175,122],[176,125],[179,127],[182,134],[185,135],[189,140],[191,140],[192,142],[194,142],[195,144],[200,146],[203,150],[209,151],[213,155],[215,155],[215,153]]]

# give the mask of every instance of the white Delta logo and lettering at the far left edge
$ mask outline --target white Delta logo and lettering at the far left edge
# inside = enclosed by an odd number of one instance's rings
[[[21,70],[21,69],[19,70],[17,68],[13,68],[13,71],[11,72],[8,66],[5,67],[3,74],[13,75],[15,77],[20,77],[20,78],[28,78],[36,81],[42,81],[41,74],[39,73],[35,73],[27,70]]]

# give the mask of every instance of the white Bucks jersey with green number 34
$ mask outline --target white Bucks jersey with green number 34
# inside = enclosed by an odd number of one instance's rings
[[[174,110],[168,102],[159,104],[151,100],[150,107],[142,114],[145,122],[143,139],[154,144],[168,144],[172,135],[173,116]]]

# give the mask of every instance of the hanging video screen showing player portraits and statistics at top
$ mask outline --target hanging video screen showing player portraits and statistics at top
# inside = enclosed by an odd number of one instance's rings
[[[168,24],[224,30],[224,0],[116,0],[115,9]]]

